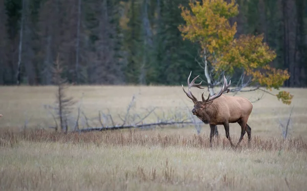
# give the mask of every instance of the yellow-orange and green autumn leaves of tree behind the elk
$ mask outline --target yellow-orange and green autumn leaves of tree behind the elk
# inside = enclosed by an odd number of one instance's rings
[[[270,91],[272,88],[278,90],[289,79],[287,70],[270,66],[276,53],[263,42],[263,34],[234,37],[237,25],[234,23],[231,26],[229,23],[229,18],[238,14],[238,5],[234,0],[231,3],[224,0],[193,1],[189,3],[189,8],[180,8],[185,20],[185,25],[179,26],[183,38],[201,45],[206,60],[215,72],[225,71],[231,75],[236,68],[244,69],[255,84]],[[291,104],[293,97],[285,91],[280,91],[276,96],[286,104]]]

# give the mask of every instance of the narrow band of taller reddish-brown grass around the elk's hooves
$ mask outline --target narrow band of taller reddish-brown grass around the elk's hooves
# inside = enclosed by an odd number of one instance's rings
[[[173,132],[163,133],[156,131],[126,130],[126,131],[103,131],[89,133],[57,133],[45,130],[31,130],[20,133],[12,133],[9,130],[2,131],[0,135],[0,146],[17,146],[20,141],[29,142],[56,142],[70,144],[94,144],[112,146],[161,146],[161,147],[190,147],[190,148],[209,148],[208,135],[182,135]],[[231,138],[234,143],[238,138]],[[214,148],[230,148],[230,143],[224,136],[213,138]],[[261,138],[253,137],[251,143],[247,138],[234,150],[239,151],[248,149],[250,151],[304,151],[307,152],[307,144],[299,138],[280,139],[280,138]]]

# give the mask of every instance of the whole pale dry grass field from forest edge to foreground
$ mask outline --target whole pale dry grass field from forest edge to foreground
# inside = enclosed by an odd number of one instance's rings
[[[0,87],[0,190],[305,190],[307,187],[307,90],[287,89],[291,105],[271,95],[253,103],[247,135],[233,149],[221,135],[209,147],[209,125],[200,135],[193,126],[91,133],[54,133],[43,108],[53,104],[55,87]],[[194,89],[201,96],[201,91]],[[192,102],[181,87],[71,87],[69,95],[82,97],[82,111],[95,121],[107,109],[121,122],[131,97],[133,112],[157,107],[165,117],[187,114]],[[240,93],[250,100],[261,92]],[[281,136],[291,108],[289,138]],[[187,108],[186,108],[187,107]],[[147,121],[153,122],[155,116]],[[27,121],[27,132],[23,126]],[[80,120],[80,124],[83,124]],[[36,130],[36,129],[40,130]],[[45,128],[45,129],[43,129]],[[230,124],[234,143],[238,124]]]

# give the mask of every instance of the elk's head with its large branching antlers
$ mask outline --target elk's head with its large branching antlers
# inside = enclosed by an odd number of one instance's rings
[[[192,74],[192,71],[190,72],[190,75],[188,77],[188,92],[186,92],[184,90],[183,85],[182,85],[182,89],[183,89],[184,93],[186,93],[186,95],[194,103],[194,108],[192,109],[193,115],[196,115],[196,116],[199,117],[203,113],[203,110],[211,105],[211,103],[213,102],[214,99],[220,97],[225,91],[227,91],[227,93],[229,92],[228,88],[230,86],[231,81],[229,81],[229,84],[227,84],[227,80],[224,76],[224,85],[223,85],[223,88],[220,90],[220,92],[218,92],[217,94],[214,94],[213,96],[210,96],[210,93],[209,93],[207,99],[204,98],[204,92],[203,92],[202,93],[202,101],[198,101],[197,98],[192,94],[191,88],[196,87],[196,88],[199,88],[199,89],[204,89],[203,87],[201,87],[201,84],[202,84],[203,81],[201,81],[200,83],[195,83],[195,80],[200,76],[200,75],[198,75],[190,83],[191,74]]]

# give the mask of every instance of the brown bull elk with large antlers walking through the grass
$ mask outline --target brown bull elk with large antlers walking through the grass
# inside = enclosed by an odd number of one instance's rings
[[[231,84],[231,80],[229,84],[224,76],[224,85],[223,88],[217,93],[210,96],[208,98],[204,98],[204,92],[202,93],[202,101],[198,101],[196,97],[191,92],[191,87],[196,87],[199,89],[204,89],[201,87],[200,83],[195,83],[195,80],[199,77],[196,76],[190,83],[191,73],[188,77],[188,92],[186,92],[183,88],[184,93],[193,101],[194,108],[192,110],[192,114],[196,115],[199,119],[201,119],[205,124],[210,125],[210,147],[212,146],[212,137],[214,134],[215,125],[224,125],[226,137],[229,140],[231,146],[233,147],[233,143],[229,136],[229,123],[238,123],[241,126],[241,136],[237,143],[242,141],[245,132],[248,135],[248,141],[251,141],[251,128],[247,124],[248,118],[252,112],[253,104],[250,100],[245,97],[235,97],[235,96],[227,96],[223,95],[224,92],[229,92],[229,86]]]

